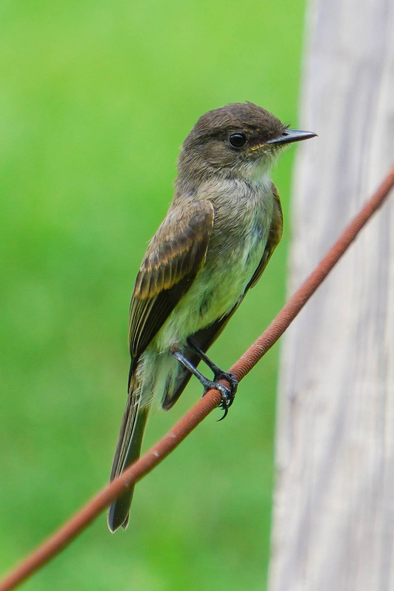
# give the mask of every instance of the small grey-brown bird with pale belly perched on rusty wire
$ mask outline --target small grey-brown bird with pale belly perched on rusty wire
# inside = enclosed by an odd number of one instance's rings
[[[284,146],[314,137],[288,129],[253,103],[198,119],[183,143],[174,199],[149,243],[129,319],[128,402],[111,480],[135,462],[149,409],[178,400],[191,374],[233,400],[234,376],[204,355],[261,277],[282,236],[282,210],[269,171]],[[210,381],[196,366],[203,359]],[[218,384],[225,378],[230,388]],[[133,488],[109,506],[108,526],[126,527]]]

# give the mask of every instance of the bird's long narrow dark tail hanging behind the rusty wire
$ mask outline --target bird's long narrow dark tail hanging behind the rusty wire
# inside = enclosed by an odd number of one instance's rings
[[[138,460],[141,453],[142,437],[144,436],[149,408],[140,407],[141,384],[139,384],[137,374],[138,372],[135,371],[130,377],[129,397],[112,463],[110,480],[115,479],[127,466]],[[108,527],[110,531],[114,532],[121,525],[123,528],[127,527],[133,492],[134,486],[109,506]]]

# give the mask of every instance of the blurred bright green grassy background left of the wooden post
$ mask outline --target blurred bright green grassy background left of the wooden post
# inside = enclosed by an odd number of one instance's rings
[[[0,5],[0,568],[108,480],[126,402],[128,306],[198,116],[252,100],[297,125],[304,2]],[[284,302],[294,149],[274,173],[285,235],[211,356],[228,368]],[[262,590],[278,348],[31,590]],[[149,422],[154,443],[201,394]]]

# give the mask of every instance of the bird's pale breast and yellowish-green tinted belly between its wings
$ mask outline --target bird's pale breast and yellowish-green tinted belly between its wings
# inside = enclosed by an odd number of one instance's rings
[[[220,194],[211,197],[215,217],[206,262],[159,330],[159,350],[181,345],[232,310],[261,261],[272,222],[272,190],[238,183],[232,199],[226,193],[224,204]]]

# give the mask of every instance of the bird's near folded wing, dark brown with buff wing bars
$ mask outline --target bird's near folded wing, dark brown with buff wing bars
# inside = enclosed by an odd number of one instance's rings
[[[174,208],[149,244],[130,304],[132,369],[203,267],[213,217],[209,201]]]

